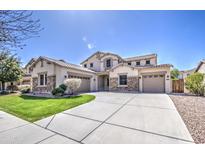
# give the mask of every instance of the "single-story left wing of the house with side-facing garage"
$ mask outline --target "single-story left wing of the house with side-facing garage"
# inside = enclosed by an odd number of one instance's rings
[[[31,68],[32,91],[35,93],[50,93],[67,78],[81,79],[81,86],[78,90],[80,92],[97,90],[96,73],[79,65],[41,56],[32,64]]]

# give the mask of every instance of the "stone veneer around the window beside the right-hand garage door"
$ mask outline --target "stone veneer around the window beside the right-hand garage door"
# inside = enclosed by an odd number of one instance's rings
[[[139,78],[127,77],[127,86],[119,87],[118,78],[110,78],[110,91],[139,91]]]

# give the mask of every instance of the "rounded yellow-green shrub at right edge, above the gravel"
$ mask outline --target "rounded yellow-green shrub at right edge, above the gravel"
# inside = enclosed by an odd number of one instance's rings
[[[204,74],[191,74],[186,78],[185,86],[191,93],[203,96],[205,91]]]

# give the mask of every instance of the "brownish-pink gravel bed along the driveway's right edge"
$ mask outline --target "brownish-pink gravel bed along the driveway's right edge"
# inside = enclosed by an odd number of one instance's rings
[[[169,95],[195,143],[205,143],[205,97]]]

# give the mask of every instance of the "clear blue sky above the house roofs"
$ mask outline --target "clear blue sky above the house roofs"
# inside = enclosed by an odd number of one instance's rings
[[[40,37],[15,52],[25,65],[48,56],[80,64],[96,51],[158,55],[158,64],[192,69],[205,58],[205,11],[34,11]]]

